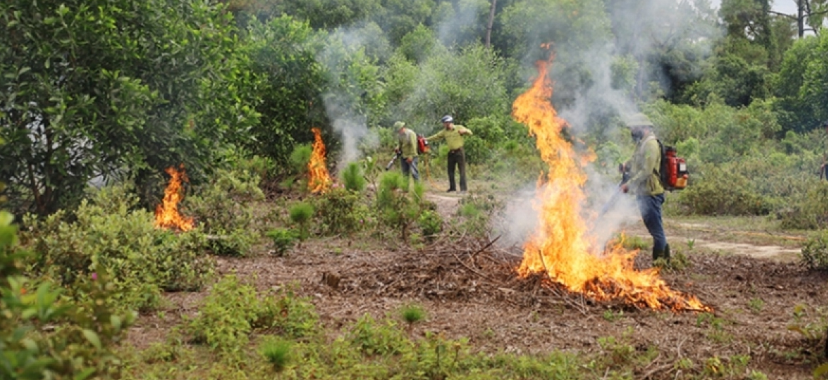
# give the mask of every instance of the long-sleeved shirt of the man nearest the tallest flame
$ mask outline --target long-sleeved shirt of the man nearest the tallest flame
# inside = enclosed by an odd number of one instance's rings
[[[630,163],[630,189],[636,195],[658,195],[664,193],[659,171],[661,170],[661,149],[655,136],[649,135],[635,145]]]

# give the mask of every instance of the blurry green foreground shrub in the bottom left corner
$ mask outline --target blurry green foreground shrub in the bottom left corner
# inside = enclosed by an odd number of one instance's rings
[[[17,247],[13,217],[0,211],[0,378],[114,379],[121,361],[112,348],[134,322],[135,314],[114,313],[111,276],[95,276],[73,286],[86,297],[61,299],[49,282],[21,276],[29,254]],[[48,326],[60,323],[58,329]]]

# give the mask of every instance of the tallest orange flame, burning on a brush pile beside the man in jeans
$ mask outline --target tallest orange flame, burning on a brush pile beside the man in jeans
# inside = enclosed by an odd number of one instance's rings
[[[529,127],[536,137],[541,158],[549,165],[544,180],[538,180],[540,221],[524,246],[518,268],[522,276],[546,272],[552,281],[592,299],[622,300],[636,307],[709,311],[696,297],[671,290],[657,269],[636,271],[636,252],[620,244],[603,255],[590,253],[591,238],[581,216],[586,182],[583,165],[588,161],[561,136],[567,125],[550,103],[552,83],[547,78],[549,62],[538,62],[538,77],[532,87],[512,105],[512,117]]]

